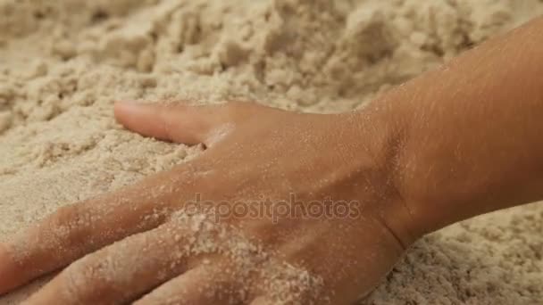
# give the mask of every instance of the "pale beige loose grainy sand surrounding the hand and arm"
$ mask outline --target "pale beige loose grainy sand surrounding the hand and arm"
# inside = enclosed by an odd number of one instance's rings
[[[542,12],[538,0],[0,0],[0,242],[200,152],[123,130],[115,99],[350,111]],[[542,257],[543,204],[499,211],[416,243],[363,304],[541,304]]]

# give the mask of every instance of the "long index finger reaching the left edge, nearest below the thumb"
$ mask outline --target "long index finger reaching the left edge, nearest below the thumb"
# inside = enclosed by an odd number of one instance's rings
[[[159,173],[116,193],[63,207],[13,236],[0,246],[0,294],[104,245],[163,224],[174,204],[163,189],[191,180],[181,171],[175,177]]]

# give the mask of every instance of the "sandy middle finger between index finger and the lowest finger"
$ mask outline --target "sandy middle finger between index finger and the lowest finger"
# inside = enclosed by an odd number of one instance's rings
[[[131,235],[71,264],[28,304],[117,304],[132,301],[183,273],[189,230],[165,224]]]

